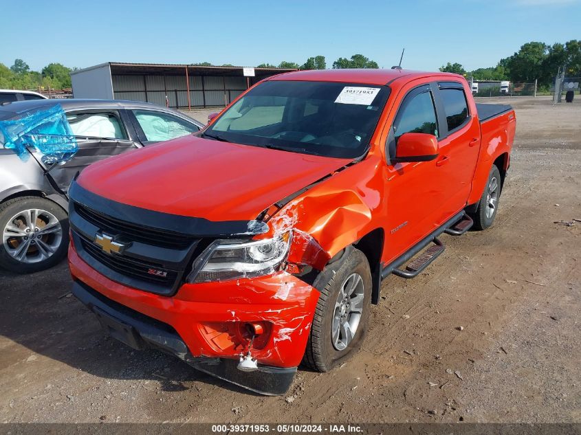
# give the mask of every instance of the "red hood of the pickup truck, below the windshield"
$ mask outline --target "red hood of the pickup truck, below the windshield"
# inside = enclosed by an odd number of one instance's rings
[[[92,164],[77,182],[139,208],[209,221],[250,221],[349,161],[188,135]]]

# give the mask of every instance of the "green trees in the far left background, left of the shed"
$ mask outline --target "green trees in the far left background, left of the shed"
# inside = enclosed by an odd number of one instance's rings
[[[14,60],[8,68],[0,63],[0,89],[67,89],[71,87],[70,72],[60,63],[50,63],[40,72],[32,71],[22,59]]]

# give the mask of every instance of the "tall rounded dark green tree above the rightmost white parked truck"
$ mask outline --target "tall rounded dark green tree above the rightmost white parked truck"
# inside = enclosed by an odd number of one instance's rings
[[[534,82],[535,79],[546,80],[546,59],[549,47],[545,43],[526,43],[507,60],[509,78],[513,82]]]

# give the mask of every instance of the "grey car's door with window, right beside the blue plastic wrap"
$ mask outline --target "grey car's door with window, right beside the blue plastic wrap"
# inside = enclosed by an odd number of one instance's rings
[[[126,114],[120,109],[73,109],[67,111],[78,144],[74,157],[50,169],[58,188],[67,192],[76,172],[96,161],[138,148],[131,123],[123,122]],[[129,124],[131,128],[127,128]]]

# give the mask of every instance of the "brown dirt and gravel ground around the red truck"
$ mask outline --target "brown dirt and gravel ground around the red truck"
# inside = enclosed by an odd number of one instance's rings
[[[0,271],[0,422],[581,422],[581,222],[553,223],[581,219],[581,97],[495,100],[518,129],[494,226],[385,280],[344,366],[257,396],[102,335],[65,263]]]

